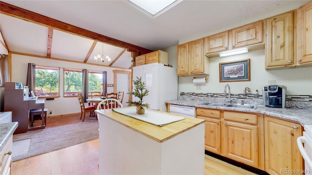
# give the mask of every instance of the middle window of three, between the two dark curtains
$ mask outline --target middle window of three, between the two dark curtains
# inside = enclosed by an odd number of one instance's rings
[[[82,70],[64,69],[64,97],[76,96],[82,89]]]

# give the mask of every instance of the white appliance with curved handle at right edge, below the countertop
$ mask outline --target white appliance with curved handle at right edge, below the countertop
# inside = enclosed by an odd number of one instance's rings
[[[303,173],[312,175],[312,125],[304,125],[304,129],[303,136],[297,138],[297,144],[304,159],[305,170]]]

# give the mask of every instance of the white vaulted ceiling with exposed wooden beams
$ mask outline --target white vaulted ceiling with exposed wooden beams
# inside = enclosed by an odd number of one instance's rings
[[[131,52],[138,55],[176,46],[179,39],[287,1],[181,0],[151,18],[126,0],[3,0],[0,29],[10,52],[128,69]],[[110,63],[94,60],[102,54],[102,43]]]

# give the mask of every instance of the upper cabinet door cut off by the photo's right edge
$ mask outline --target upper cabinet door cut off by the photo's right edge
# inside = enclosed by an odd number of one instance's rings
[[[297,65],[312,64],[312,1],[297,9]]]

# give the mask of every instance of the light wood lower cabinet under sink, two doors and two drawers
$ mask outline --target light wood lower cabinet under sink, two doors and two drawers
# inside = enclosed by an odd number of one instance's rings
[[[264,170],[263,115],[196,108],[206,120],[205,149]]]

